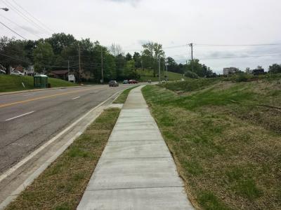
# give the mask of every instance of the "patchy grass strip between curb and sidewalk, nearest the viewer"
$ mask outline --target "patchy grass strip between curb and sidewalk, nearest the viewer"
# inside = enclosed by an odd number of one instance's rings
[[[76,209],[120,109],[107,109],[8,209]]]

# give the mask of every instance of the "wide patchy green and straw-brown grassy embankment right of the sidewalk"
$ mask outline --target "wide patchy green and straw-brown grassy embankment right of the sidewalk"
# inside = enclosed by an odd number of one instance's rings
[[[143,88],[197,209],[281,209],[281,80]]]

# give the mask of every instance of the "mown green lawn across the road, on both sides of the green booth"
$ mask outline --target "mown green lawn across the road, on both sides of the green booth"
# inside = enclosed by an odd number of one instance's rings
[[[25,87],[22,86],[25,84]],[[48,83],[51,83],[51,87],[70,87],[76,84],[70,83],[58,78],[48,78]],[[10,92],[18,90],[31,90],[33,87],[32,76],[15,76],[0,74],[0,92]]]

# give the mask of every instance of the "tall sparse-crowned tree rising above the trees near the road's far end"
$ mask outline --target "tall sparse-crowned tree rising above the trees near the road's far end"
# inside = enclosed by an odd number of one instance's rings
[[[149,42],[143,45],[143,60],[149,62],[148,66],[153,69],[153,76],[156,76],[158,59],[164,57],[165,52],[162,49],[162,44]]]

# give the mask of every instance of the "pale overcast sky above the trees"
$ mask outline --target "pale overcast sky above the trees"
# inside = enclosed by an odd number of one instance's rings
[[[153,41],[181,63],[194,43],[194,57],[216,73],[281,64],[280,0],[0,0],[2,7],[10,10],[0,10],[0,21],[28,39],[64,32],[131,54]],[[21,38],[3,25],[0,36]]]

